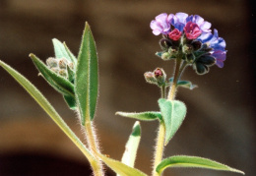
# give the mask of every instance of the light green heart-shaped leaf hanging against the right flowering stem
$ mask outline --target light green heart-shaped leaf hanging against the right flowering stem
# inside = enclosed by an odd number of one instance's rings
[[[166,146],[182,124],[187,110],[185,104],[178,100],[160,98],[159,105],[165,127]]]

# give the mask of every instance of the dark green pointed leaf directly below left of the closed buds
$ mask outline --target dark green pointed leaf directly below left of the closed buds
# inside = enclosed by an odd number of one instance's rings
[[[55,88],[63,95],[75,97],[74,85],[63,77],[60,77],[53,71],[51,71],[44,63],[42,63],[35,55],[30,54],[33,64],[36,66],[43,78],[48,82],[50,86]]]

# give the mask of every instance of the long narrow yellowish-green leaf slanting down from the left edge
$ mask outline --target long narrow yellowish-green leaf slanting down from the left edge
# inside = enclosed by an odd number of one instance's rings
[[[58,127],[69,137],[69,139],[80,148],[86,155],[90,162],[96,162],[95,157],[90,153],[87,147],[80,141],[80,139],[73,133],[68,125],[59,116],[56,110],[51,106],[48,100],[35,88],[30,81],[24,76],[11,68],[9,65],[0,61],[2,66],[23,88],[25,88],[32,96],[32,98],[41,106],[41,108],[51,117],[51,119],[58,125]]]

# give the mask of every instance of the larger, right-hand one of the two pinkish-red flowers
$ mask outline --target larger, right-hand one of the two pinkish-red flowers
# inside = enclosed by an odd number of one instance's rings
[[[198,25],[192,22],[186,24],[184,31],[188,39],[196,39],[202,33],[202,30],[199,29]]]

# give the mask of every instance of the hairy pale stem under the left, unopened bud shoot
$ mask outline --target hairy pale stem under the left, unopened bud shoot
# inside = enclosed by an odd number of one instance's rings
[[[91,122],[91,120],[86,121],[85,128],[86,128],[86,134],[87,134],[87,142],[90,147],[90,151],[96,158],[96,162],[91,163],[92,168],[94,170],[94,174],[95,174],[95,176],[102,176],[104,174],[103,174],[101,161],[99,160],[99,158],[96,155],[96,152],[99,152],[98,151],[99,149],[98,149],[98,144],[96,141],[95,129],[94,129],[94,126],[93,126],[93,123]]]

